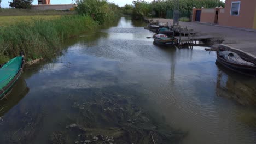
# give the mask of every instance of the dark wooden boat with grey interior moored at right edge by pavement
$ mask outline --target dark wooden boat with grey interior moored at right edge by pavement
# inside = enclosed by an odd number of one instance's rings
[[[229,52],[229,56],[233,57],[234,55],[238,55],[242,60],[241,62],[234,62],[227,60],[225,57],[223,57],[221,52]],[[232,53],[232,54],[231,54]],[[231,54],[231,55],[230,55]],[[250,56],[240,50],[231,49],[228,46],[222,46],[217,50],[217,62],[222,64],[224,67],[236,71],[237,73],[241,73],[248,76],[256,76],[256,58],[253,56]]]

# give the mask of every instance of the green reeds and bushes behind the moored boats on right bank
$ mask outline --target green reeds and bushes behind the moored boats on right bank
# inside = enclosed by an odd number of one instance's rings
[[[122,8],[124,14],[130,14],[134,19],[144,19],[145,17],[172,18],[173,9],[179,5],[179,17],[189,18],[193,7],[215,8],[224,7],[221,0],[158,0],[158,1],[133,1],[133,5],[125,5]]]

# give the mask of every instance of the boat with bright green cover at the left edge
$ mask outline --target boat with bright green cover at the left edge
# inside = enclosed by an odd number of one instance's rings
[[[23,56],[15,57],[0,65],[0,99],[9,94],[14,83],[19,79],[23,67]]]

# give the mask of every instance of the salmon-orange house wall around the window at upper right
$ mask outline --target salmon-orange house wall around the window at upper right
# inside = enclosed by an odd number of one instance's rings
[[[231,2],[240,1],[239,16],[231,16]],[[256,1],[254,0],[226,0],[225,13],[219,13],[218,24],[224,26],[253,28]]]

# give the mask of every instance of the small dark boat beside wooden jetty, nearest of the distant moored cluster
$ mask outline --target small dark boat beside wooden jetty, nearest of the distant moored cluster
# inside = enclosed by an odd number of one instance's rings
[[[177,44],[177,40],[174,40],[173,38],[168,37],[165,34],[155,34],[153,36],[154,43],[158,45],[174,45]]]

